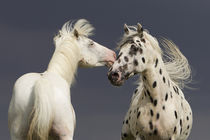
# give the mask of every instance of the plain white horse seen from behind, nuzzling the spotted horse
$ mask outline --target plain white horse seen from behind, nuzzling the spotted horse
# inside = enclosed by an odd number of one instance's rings
[[[8,111],[12,140],[72,140],[76,124],[70,86],[78,64],[110,66],[115,53],[89,39],[93,27],[78,20],[64,24],[54,38],[55,52],[44,73],[28,73],[15,83]]]

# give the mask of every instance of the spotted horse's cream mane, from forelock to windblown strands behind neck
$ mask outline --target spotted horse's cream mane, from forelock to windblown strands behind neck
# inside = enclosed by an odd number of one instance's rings
[[[129,35],[124,35],[119,45],[126,42],[129,38],[133,38],[137,35],[136,26],[128,27],[130,29]],[[172,41],[162,38],[160,39],[160,44],[164,50],[162,51],[158,40],[150,35],[147,30],[144,30],[143,35],[150,42],[152,47],[162,56],[166,71],[168,72],[171,80],[180,88],[184,88],[186,84],[189,84],[192,80],[191,68],[187,58],[181,53],[179,48]]]

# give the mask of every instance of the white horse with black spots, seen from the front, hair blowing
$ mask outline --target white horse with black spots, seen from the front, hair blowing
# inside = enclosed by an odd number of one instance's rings
[[[121,86],[133,75],[140,82],[122,126],[121,140],[186,140],[192,111],[182,88],[191,81],[186,57],[170,40],[155,37],[137,26],[124,25],[119,55],[108,79]]]

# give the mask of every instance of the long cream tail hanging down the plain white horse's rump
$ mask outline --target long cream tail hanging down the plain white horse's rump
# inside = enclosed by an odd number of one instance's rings
[[[53,122],[52,87],[40,78],[33,87],[34,106],[30,115],[27,140],[48,140]]]

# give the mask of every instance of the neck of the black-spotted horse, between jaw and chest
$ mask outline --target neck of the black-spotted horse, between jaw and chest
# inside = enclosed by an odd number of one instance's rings
[[[158,62],[156,63],[157,59]],[[149,95],[147,97],[149,97],[151,101],[158,98],[163,99],[166,92],[169,91],[171,80],[161,56],[157,57],[155,63],[150,65],[141,75],[144,92]]]

